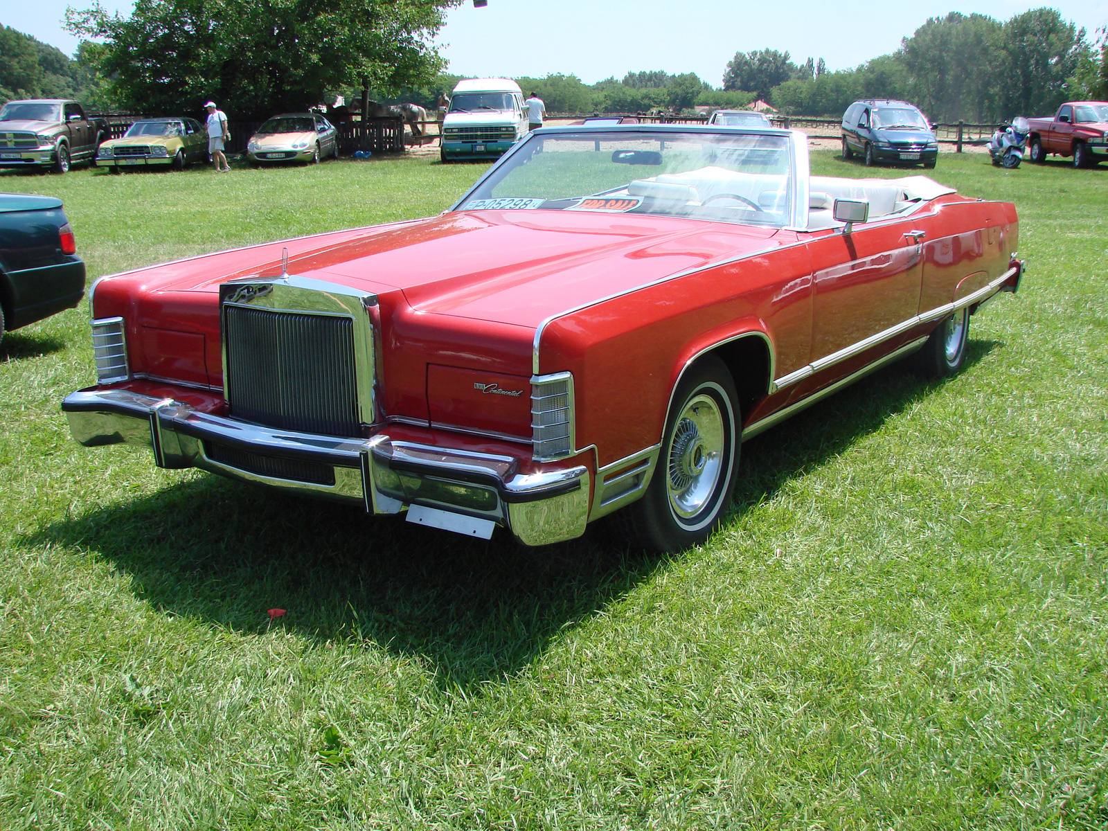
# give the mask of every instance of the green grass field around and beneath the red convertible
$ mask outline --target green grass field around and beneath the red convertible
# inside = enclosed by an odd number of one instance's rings
[[[0,191],[62,197],[91,279],[437,213],[483,170]],[[1108,168],[933,175],[1017,204],[1019,294],[956,378],[893,367],[748,443],[674,557],[83,449],[88,307],[6,336],[0,829],[1108,828]]]

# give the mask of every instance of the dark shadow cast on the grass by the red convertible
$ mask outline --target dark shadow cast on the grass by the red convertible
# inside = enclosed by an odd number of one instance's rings
[[[971,341],[967,368],[996,346]],[[730,521],[936,386],[889,368],[753,440]],[[671,562],[603,530],[525,550],[503,532],[474,540],[208,475],[53,523],[22,544],[90,551],[168,615],[261,637],[266,611],[285,609],[274,626],[417,658],[441,688],[469,691],[510,678]]]

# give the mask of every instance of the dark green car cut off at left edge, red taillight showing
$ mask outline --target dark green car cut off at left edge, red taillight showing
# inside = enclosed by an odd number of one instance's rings
[[[84,297],[84,263],[62,201],[0,194],[0,337]]]

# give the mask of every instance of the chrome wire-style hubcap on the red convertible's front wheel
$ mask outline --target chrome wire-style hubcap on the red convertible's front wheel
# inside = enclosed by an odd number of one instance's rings
[[[711,501],[724,471],[724,416],[715,399],[696,396],[677,418],[667,464],[669,505],[684,519]]]

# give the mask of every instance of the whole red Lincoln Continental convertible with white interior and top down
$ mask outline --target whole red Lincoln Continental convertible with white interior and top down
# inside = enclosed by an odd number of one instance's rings
[[[1016,240],[1009,203],[810,175],[802,133],[542,129],[440,216],[99,280],[62,409],[163,468],[526,545],[618,511],[675,551],[743,440],[912,353],[956,372]]]

